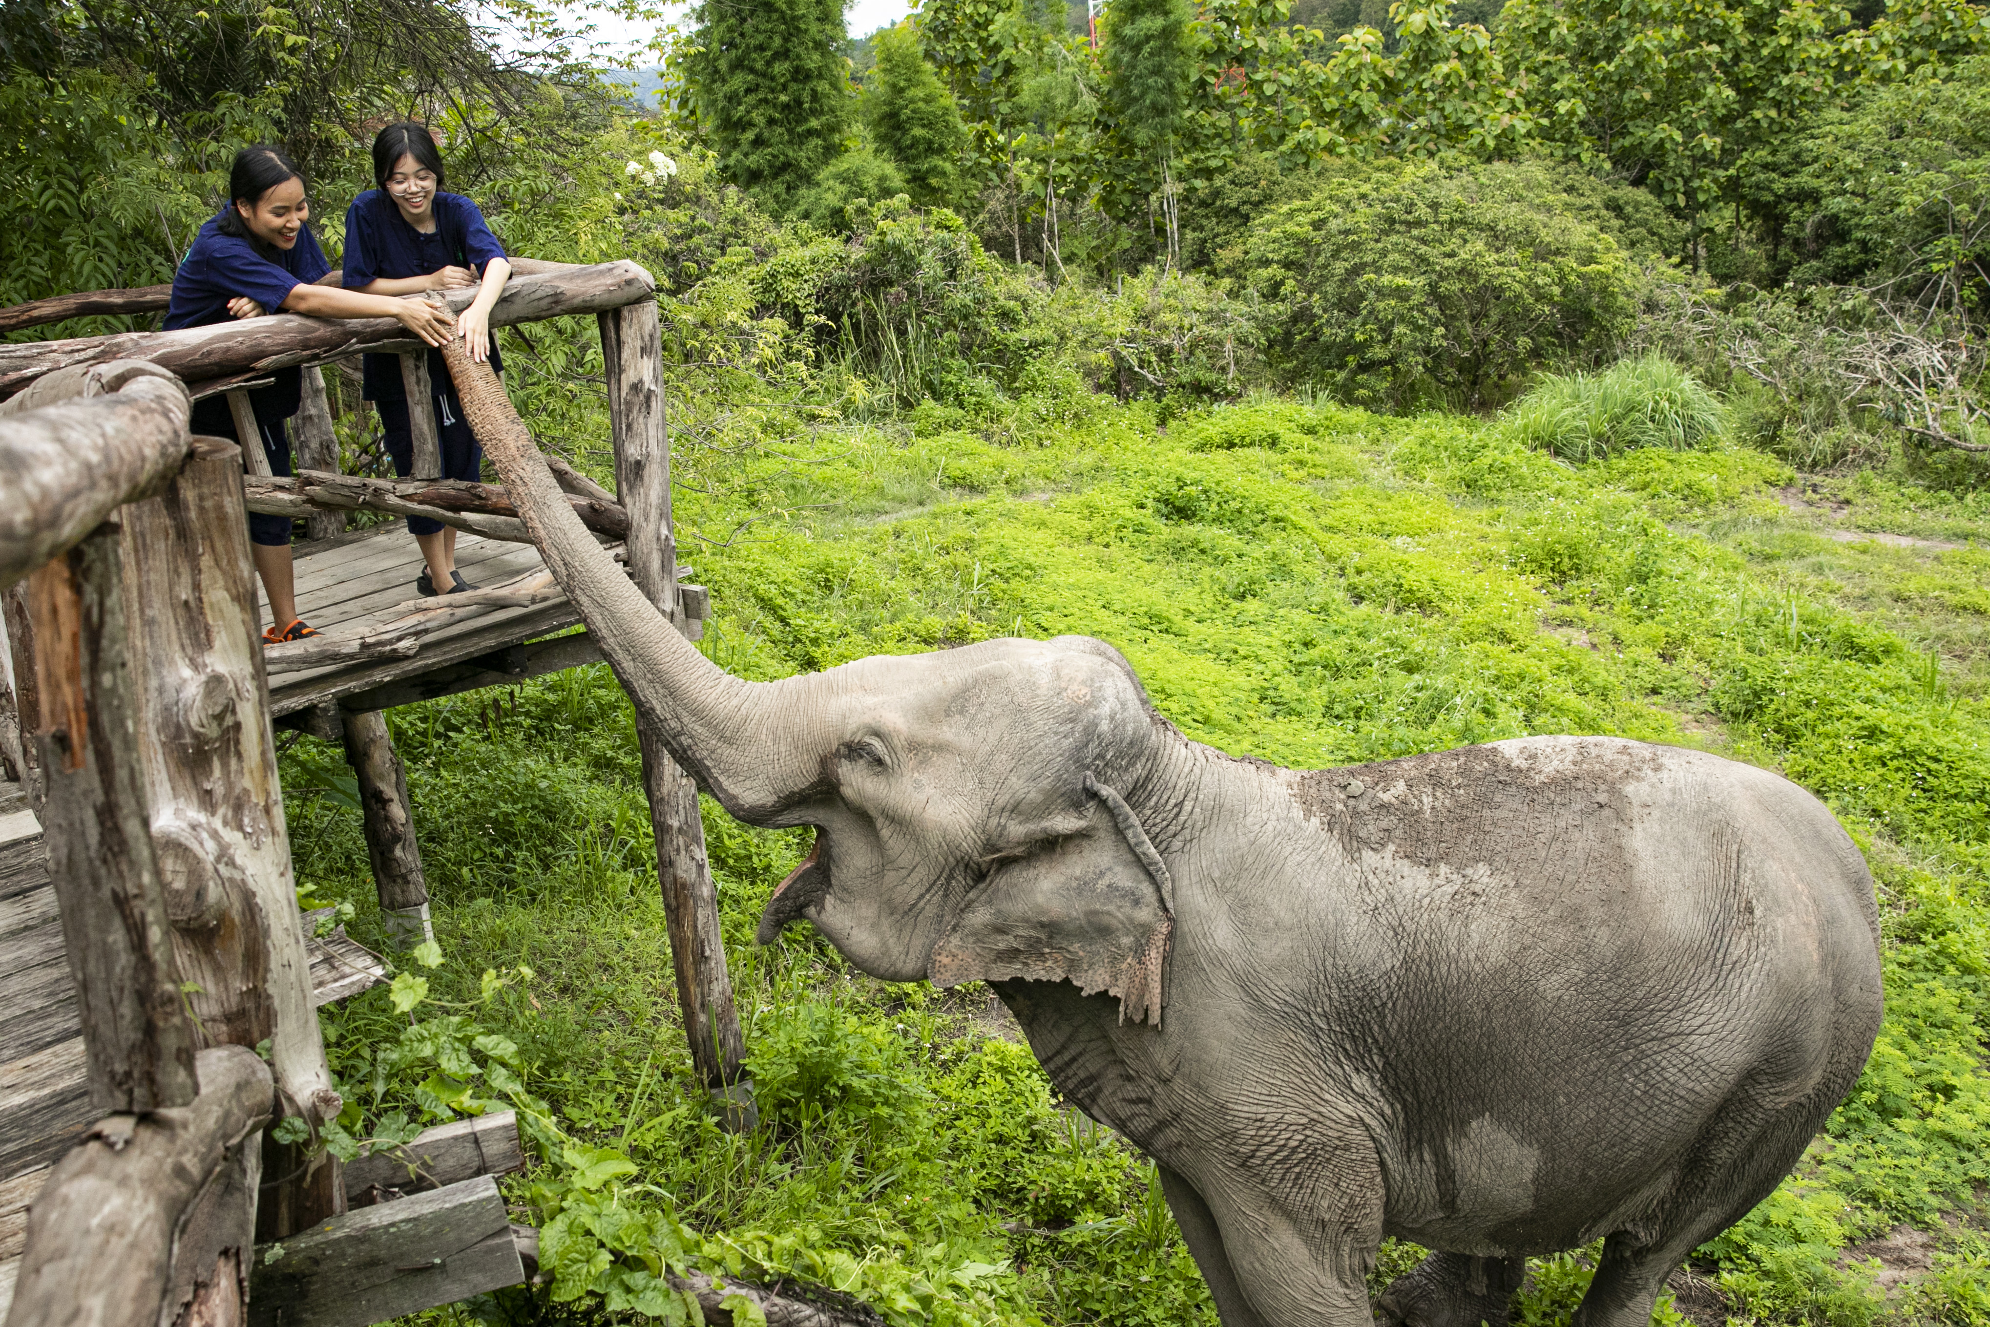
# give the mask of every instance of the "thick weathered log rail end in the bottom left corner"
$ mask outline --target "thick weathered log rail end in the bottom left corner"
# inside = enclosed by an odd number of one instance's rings
[[[113,1114],[56,1164],[8,1327],[157,1327],[197,1297],[241,1321],[271,1076],[243,1046],[203,1050],[199,1074],[189,1106]]]

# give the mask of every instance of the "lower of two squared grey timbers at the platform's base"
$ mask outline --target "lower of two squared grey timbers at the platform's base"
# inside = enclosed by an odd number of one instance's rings
[[[251,1327],[366,1327],[525,1279],[490,1176],[374,1204],[257,1257]]]

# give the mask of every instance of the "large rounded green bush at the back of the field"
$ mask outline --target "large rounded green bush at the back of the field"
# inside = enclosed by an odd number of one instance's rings
[[[1640,277],[1594,213],[1540,165],[1349,165],[1256,221],[1224,273],[1272,302],[1284,378],[1391,410],[1487,406],[1632,326]]]

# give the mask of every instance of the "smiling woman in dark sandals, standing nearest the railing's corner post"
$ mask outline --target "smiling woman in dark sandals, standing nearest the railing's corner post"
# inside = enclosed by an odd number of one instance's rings
[[[511,265],[503,245],[484,225],[478,205],[460,193],[444,193],[442,153],[428,125],[402,121],[374,137],[374,187],[352,199],[346,211],[344,283],[368,294],[416,294],[478,286],[476,298],[456,320],[472,360],[490,360],[501,372],[492,340],[492,306],[503,294]],[[442,362],[428,352],[430,400],[412,402],[392,354],[368,354],[362,394],[380,408],[386,452],[394,474],[414,472],[412,410],[436,418],[444,479],[476,479],[484,452],[464,420],[464,402]],[[408,533],[428,567],[416,577],[422,595],[454,595],[472,589],[456,569],[456,531],[440,521],[410,515]]]

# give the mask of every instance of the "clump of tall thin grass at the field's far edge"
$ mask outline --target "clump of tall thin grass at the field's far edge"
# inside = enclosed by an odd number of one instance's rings
[[[1598,374],[1550,374],[1508,416],[1520,442],[1564,462],[1636,448],[1690,452],[1717,438],[1727,410],[1693,374],[1648,354]]]

